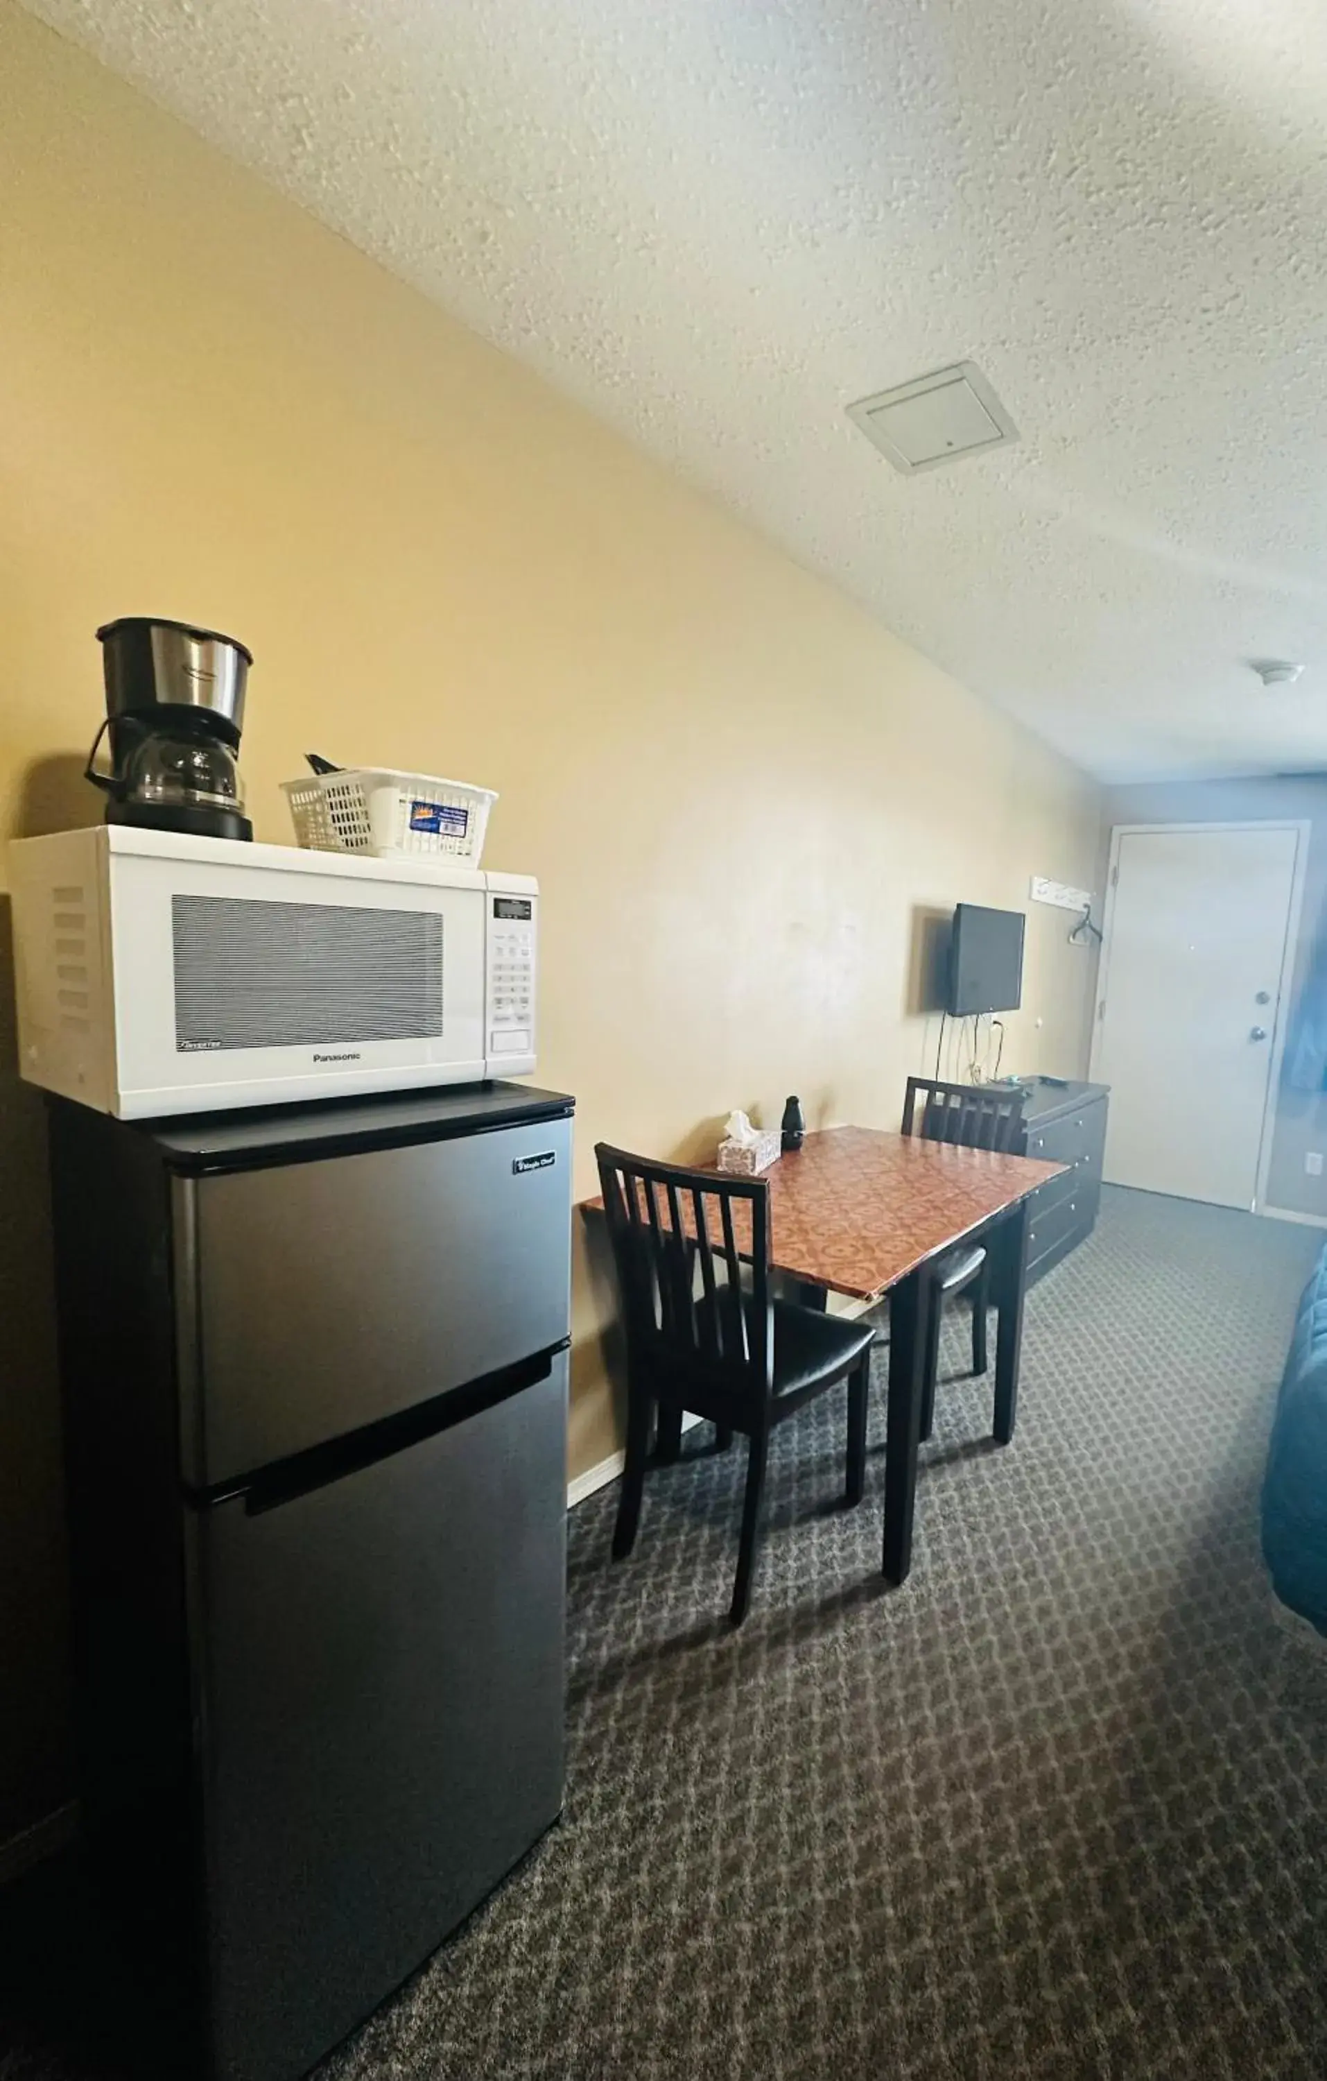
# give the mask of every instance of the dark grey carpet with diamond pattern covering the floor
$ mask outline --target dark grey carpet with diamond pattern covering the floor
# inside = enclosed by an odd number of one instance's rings
[[[1256,1550],[1319,1242],[1107,1192],[1013,1446],[942,1390],[903,1590],[838,1394],[778,1434],[740,1634],[736,1453],[691,1434],[618,1567],[584,1502],[566,1817],[320,2081],[1319,2081],[1327,1688]]]

